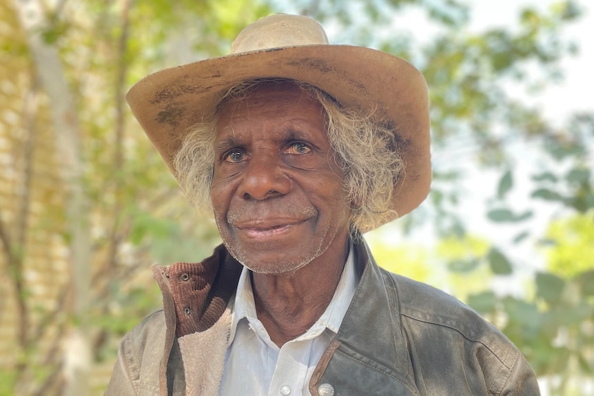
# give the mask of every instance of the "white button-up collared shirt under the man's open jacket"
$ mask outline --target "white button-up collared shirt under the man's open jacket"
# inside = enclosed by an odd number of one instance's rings
[[[353,246],[326,311],[314,326],[278,348],[256,317],[249,270],[243,268],[232,307],[231,334],[219,396],[311,396],[309,379],[340,327],[358,284]]]

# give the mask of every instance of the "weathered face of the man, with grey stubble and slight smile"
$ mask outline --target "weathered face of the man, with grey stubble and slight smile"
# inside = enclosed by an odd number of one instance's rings
[[[280,275],[345,259],[349,203],[319,103],[288,83],[261,85],[223,105],[214,152],[216,224],[239,262]]]

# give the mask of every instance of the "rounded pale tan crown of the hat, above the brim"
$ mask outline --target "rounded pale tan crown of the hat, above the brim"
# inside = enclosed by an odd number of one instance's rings
[[[274,14],[243,29],[231,44],[229,54],[293,45],[329,44],[322,25],[302,15]]]

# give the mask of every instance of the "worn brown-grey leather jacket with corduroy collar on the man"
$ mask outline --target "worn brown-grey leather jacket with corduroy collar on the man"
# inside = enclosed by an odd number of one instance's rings
[[[520,351],[478,313],[381,269],[364,243],[355,244],[355,252],[360,282],[311,377],[312,396],[540,395]],[[240,269],[222,246],[199,264],[155,267],[163,310],[125,335],[105,395],[216,396],[229,334],[220,323],[229,317],[225,309]],[[183,337],[216,326],[222,346],[198,345],[205,362],[182,357]],[[188,373],[212,382],[210,388],[187,388]]]

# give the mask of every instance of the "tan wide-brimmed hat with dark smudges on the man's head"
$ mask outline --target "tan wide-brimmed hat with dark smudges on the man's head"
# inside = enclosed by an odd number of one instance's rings
[[[403,216],[427,196],[429,101],[422,74],[386,52],[329,44],[322,26],[309,17],[276,14],[260,19],[240,32],[229,55],[150,74],[126,98],[176,176],[173,157],[192,125],[212,116],[230,87],[258,78],[305,81],[342,107],[387,118],[398,134],[405,163],[394,185],[393,209]]]

